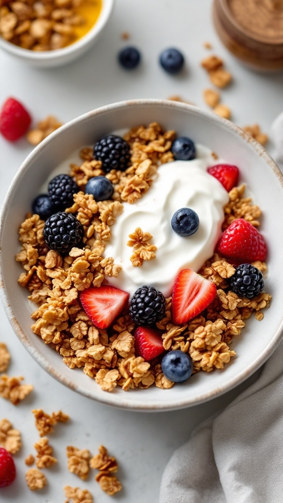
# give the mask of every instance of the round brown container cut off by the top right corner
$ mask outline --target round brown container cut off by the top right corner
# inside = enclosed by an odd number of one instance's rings
[[[283,0],[214,0],[213,21],[239,60],[258,70],[283,69]]]

